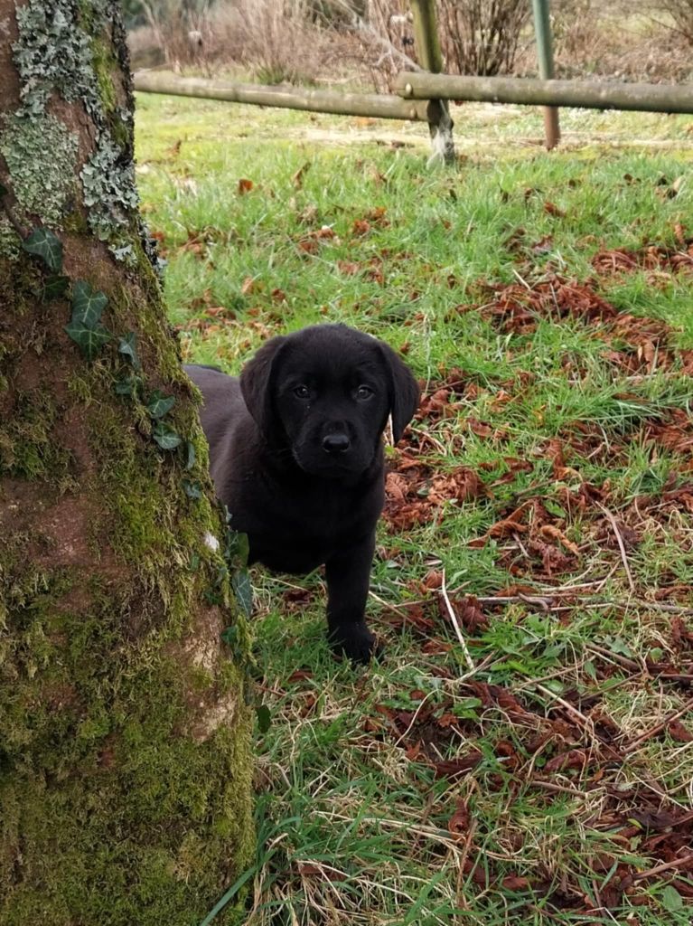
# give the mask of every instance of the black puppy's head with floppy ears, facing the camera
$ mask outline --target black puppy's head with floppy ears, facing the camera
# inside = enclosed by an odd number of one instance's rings
[[[419,398],[387,344],[345,325],[272,338],[243,369],[241,391],[267,443],[327,479],[368,469],[390,415],[398,441]]]

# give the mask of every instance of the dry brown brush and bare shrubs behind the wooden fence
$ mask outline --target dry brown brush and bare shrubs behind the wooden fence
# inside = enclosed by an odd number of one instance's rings
[[[126,0],[135,66],[387,90],[415,66],[407,0]],[[438,0],[451,73],[534,75],[529,0]],[[691,0],[553,0],[559,76],[687,81]]]

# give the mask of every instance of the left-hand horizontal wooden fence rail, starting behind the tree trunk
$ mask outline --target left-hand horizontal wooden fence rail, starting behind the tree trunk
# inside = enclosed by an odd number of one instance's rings
[[[371,119],[409,119],[427,122],[427,100],[402,100],[388,94],[342,94],[332,90],[306,90],[303,87],[267,87],[261,83],[208,81],[201,77],[177,77],[160,71],[138,71],[135,90],[145,94],[194,96],[255,106],[305,109],[338,116],[365,116]]]

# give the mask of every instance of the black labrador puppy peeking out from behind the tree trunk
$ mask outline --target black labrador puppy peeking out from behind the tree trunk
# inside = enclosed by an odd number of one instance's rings
[[[345,325],[315,325],[267,341],[240,379],[186,367],[217,495],[248,534],[249,561],[281,572],[325,565],[328,638],[367,662],[374,637],[365,600],[384,504],[382,434],[395,441],[418,385],[387,345]]]

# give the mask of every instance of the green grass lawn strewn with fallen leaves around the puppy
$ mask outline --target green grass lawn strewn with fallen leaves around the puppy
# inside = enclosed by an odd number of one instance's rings
[[[186,359],[343,321],[439,395],[390,451],[380,664],[330,656],[319,574],[254,574],[243,921],[688,923],[693,121],[563,112],[546,154],[538,112],[465,106],[444,170],[420,126],[139,105]]]

